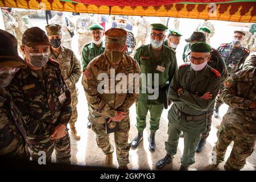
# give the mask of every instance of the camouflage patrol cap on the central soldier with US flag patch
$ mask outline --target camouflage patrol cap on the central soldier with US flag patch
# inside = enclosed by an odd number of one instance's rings
[[[122,51],[126,44],[127,32],[121,28],[110,28],[105,32],[106,49]]]

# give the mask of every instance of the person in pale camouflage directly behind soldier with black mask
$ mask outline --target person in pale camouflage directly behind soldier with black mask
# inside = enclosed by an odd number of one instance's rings
[[[75,30],[75,25],[69,18],[63,15],[61,11],[58,11],[51,20],[49,24],[59,24],[61,26],[61,32],[63,32],[61,38],[61,46],[71,49],[72,37],[71,32]]]

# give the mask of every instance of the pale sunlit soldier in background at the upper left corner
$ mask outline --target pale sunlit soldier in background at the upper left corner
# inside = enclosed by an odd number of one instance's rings
[[[16,36],[15,28],[18,28],[18,23],[13,17],[13,10],[10,7],[1,7],[1,10],[3,14],[3,23],[5,24],[5,31]]]

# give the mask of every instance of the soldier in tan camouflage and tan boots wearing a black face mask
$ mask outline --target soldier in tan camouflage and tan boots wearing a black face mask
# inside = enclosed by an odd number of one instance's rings
[[[76,131],[75,122],[77,121],[77,88],[76,83],[81,76],[81,66],[75,53],[64,46],[61,46],[61,26],[58,24],[49,24],[46,26],[49,41],[52,43],[50,48],[50,57],[60,64],[61,75],[63,76],[69,91],[71,92],[72,115],[69,119],[71,133],[76,140],[80,135]]]

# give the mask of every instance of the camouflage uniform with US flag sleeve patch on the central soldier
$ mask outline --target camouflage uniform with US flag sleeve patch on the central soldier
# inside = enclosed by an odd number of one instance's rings
[[[87,101],[89,103],[89,120],[92,122],[92,129],[96,133],[96,141],[98,147],[104,151],[106,155],[112,154],[113,146],[110,144],[109,134],[105,133],[105,118],[113,118],[117,111],[129,111],[129,107],[137,100],[138,94],[135,88],[138,86],[133,84],[133,93],[98,93],[97,86],[100,82],[97,77],[100,73],[108,74],[110,78],[110,69],[114,69],[108,62],[105,53],[96,57],[86,67],[82,78]],[[128,55],[123,55],[121,64],[115,73],[140,74],[138,63]],[[114,77],[115,78],[115,77]],[[134,78],[133,82],[135,81]],[[115,81],[110,78],[109,81]],[[115,85],[119,81],[115,81]],[[127,81],[129,83],[129,81]],[[139,84],[139,83],[138,83]],[[110,87],[109,87],[110,91]],[[119,122],[119,131],[114,133],[115,146],[117,148],[117,161],[119,166],[129,163],[130,144],[128,143],[128,135],[130,130],[129,112],[127,117]]]

